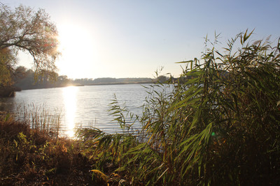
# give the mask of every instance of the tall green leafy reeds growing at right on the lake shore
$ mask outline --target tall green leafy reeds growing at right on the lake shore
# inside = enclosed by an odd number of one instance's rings
[[[99,153],[108,153],[103,162],[125,171],[132,185],[279,184],[280,42],[251,44],[251,36],[228,40],[223,53],[218,36],[206,38],[211,48],[200,60],[183,62],[178,82],[166,82],[174,91],[154,91],[144,105],[140,134],[148,139],[94,137]],[[118,121],[127,127],[125,118]]]

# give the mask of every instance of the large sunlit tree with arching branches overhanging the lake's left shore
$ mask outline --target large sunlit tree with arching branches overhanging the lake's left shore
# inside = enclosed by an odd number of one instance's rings
[[[34,11],[27,6],[11,10],[0,3],[0,85],[10,86],[15,75],[16,56],[19,51],[31,54],[35,77],[55,77],[57,28],[50,22],[45,10]]]

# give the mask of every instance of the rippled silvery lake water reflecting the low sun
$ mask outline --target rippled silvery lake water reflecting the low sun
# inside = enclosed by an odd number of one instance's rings
[[[1,98],[0,111],[47,108],[50,114],[61,116],[61,131],[73,137],[75,127],[97,127],[115,133],[121,129],[109,115],[109,104],[114,94],[120,103],[134,114],[141,115],[141,105],[148,96],[147,88],[140,84],[68,86],[17,92],[14,98]],[[139,123],[138,123],[139,125]]]

